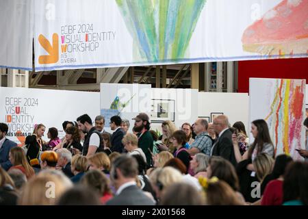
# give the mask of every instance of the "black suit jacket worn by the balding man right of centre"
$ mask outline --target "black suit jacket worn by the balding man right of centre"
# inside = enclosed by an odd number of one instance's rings
[[[224,133],[222,133],[222,136],[218,138],[216,144],[214,144],[212,155],[220,156],[224,159],[229,160],[229,162],[231,162],[233,166],[237,165],[232,143],[232,132],[229,129],[224,131]]]

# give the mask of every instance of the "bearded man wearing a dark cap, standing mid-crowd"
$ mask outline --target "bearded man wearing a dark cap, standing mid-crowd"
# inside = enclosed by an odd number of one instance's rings
[[[146,155],[146,164],[149,168],[152,166],[152,155],[150,151],[153,151],[153,137],[149,132],[149,116],[145,113],[140,113],[136,118],[133,118],[133,120],[135,120],[133,129],[137,132],[138,147],[142,149]]]

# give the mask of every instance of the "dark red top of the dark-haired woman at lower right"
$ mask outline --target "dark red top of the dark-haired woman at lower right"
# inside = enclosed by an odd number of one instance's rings
[[[274,179],[266,185],[261,205],[282,205],[283,203],[283,178]]]

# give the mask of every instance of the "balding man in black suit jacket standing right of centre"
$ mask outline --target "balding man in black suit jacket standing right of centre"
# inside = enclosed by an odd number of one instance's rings
[[[221,115],[214,118],[214,131],[218,135],[218,140],[213,145],[213,156],[220,156],[229,160],[231,164],[236,166],[233,144],[232,144],[232,132],[229,130],[229,121],[227,116]]]

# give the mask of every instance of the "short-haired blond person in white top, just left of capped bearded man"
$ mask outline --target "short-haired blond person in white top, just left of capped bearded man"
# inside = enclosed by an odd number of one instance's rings
[[[144,159],[144,162],[146,162],[146,155],[144,154],[142,149],[138,148],[138,138],[136,135],[132,133],[127,133],[124,136],[122,143],[129,155],[141,155]]]

